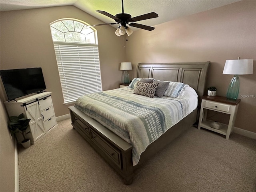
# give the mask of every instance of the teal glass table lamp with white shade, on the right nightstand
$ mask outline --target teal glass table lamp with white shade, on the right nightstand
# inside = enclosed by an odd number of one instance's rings
[[[234,75],[232,78],[228,90],[227,99],[236,100],[239,93],[239,77],[238,75],[252,74],[253,69],[253,59],[240,59],[237,60],[226,60],[223,74]]]

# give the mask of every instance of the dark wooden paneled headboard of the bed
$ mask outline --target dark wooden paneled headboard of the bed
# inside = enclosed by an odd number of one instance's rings
[[[210,61],[192,63],[139,63],[138,78],[154,78],[188,84],[196,90],[198,97],[204,95],[206,74]]]

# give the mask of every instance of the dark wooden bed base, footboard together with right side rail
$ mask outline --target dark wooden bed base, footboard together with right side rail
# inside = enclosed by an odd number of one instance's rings
[[[68,108],[73,128],[122,176],[124,184],[131,184],[133,169],[135,168],[132,165],[132,145],[74,106]],[[172,142],[190,125],[194,124],[196,122],[196,114],[197,109],[150,144],[142,153],[136,167]]]

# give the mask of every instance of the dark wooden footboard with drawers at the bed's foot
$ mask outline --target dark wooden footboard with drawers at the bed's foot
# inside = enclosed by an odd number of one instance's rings
[[[70,110],[72,126],[122,176],[132,183],[132,145],[74,106]]]

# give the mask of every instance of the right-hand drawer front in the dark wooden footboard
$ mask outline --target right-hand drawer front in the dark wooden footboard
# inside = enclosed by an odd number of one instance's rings
[[[111,146],[108,142],[103,140],[96,132],[90,129],[90,132],[92,134],[92,142],[94,142],[101,150],[104,152],[107,156],[111,158],[111,160],[120,166],[121,168],[121,162],[120,162],[120,154],[116,148]]]

